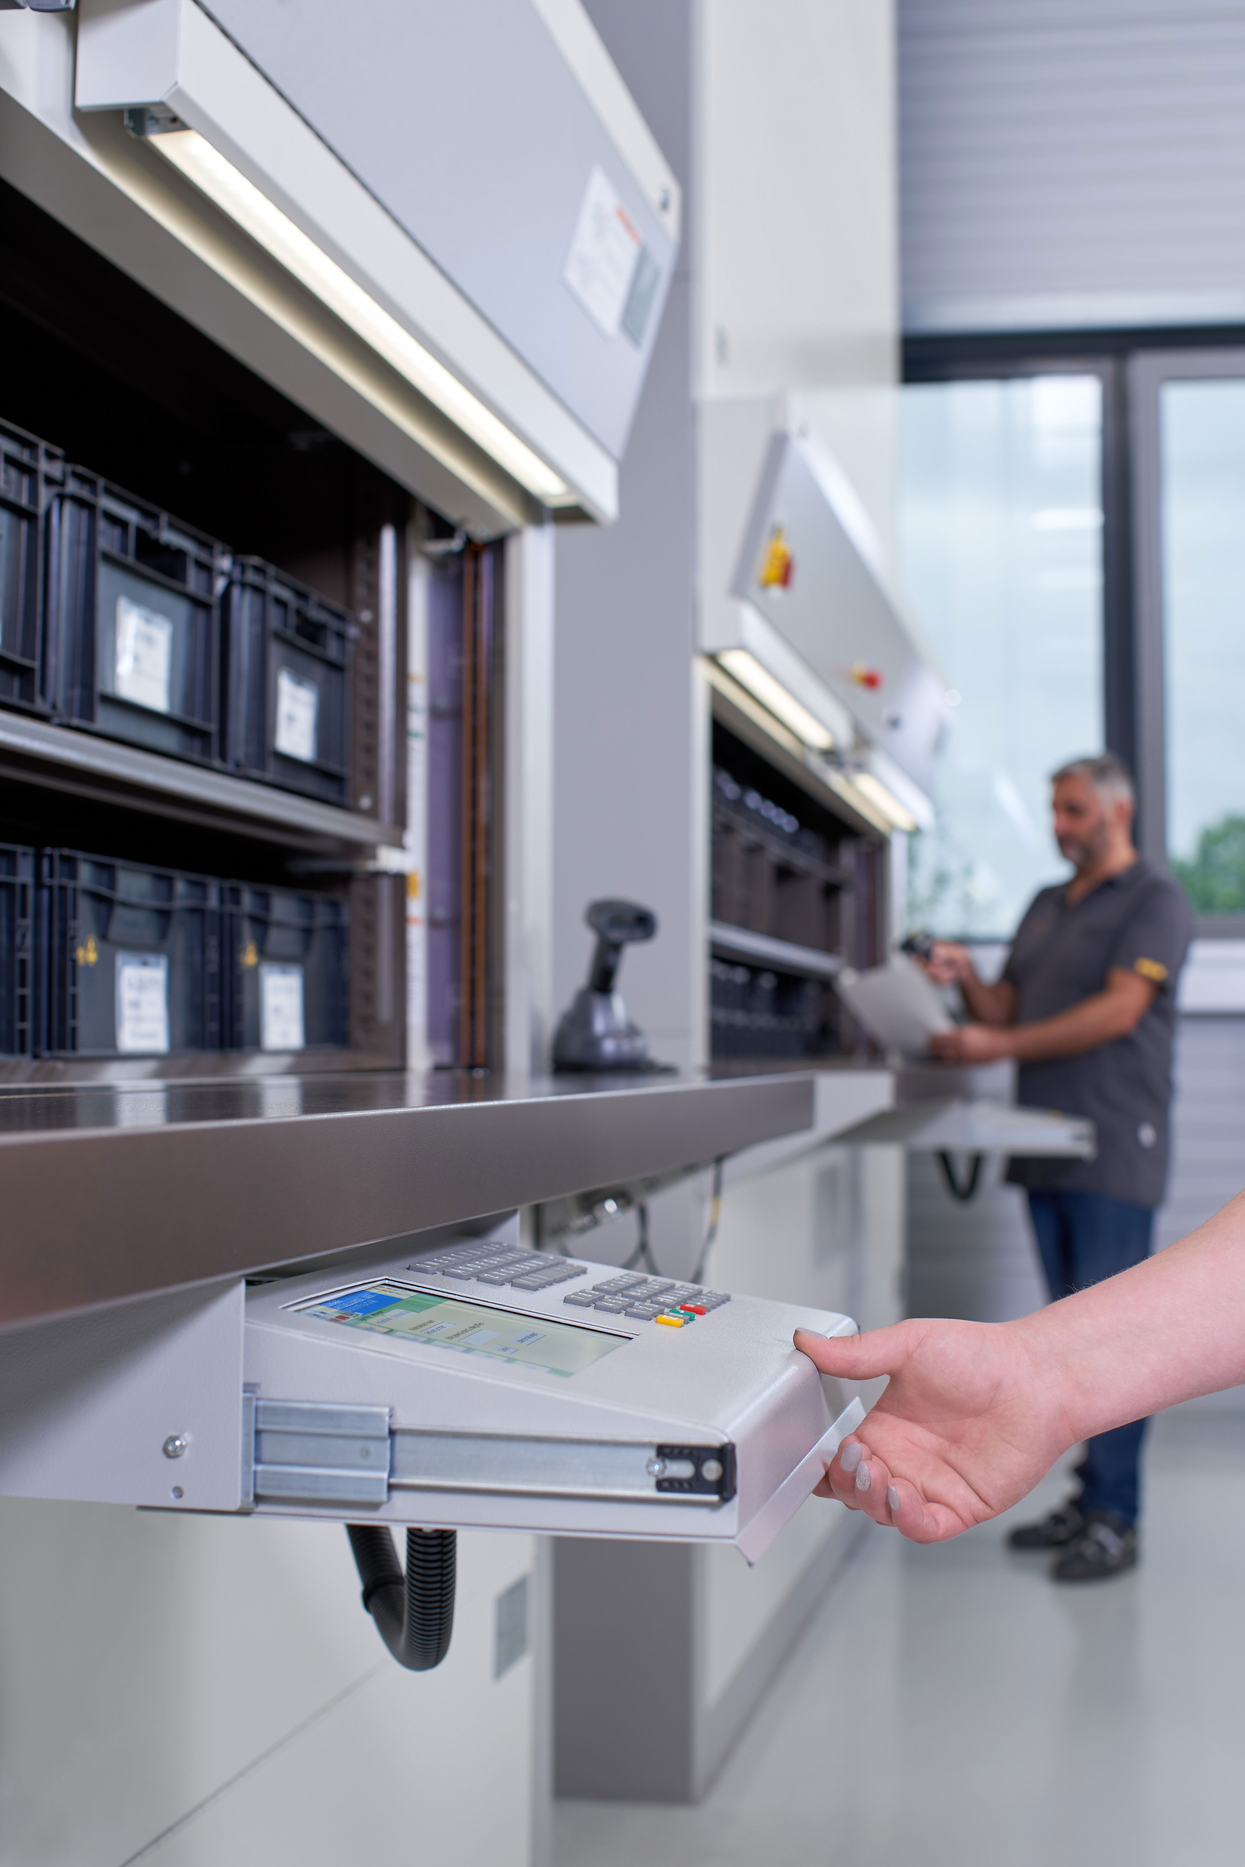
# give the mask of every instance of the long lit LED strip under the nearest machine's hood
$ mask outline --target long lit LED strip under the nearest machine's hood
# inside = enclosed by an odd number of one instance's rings
[[[566,480],[539,454],[519,441],[205,136],[194,129],[172,129],[151,134],[149,142],[534,498],[543,506],[577,504]]]

